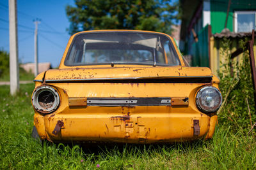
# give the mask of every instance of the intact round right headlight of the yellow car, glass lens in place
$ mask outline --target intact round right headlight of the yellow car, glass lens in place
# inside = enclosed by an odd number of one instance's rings
[[[196,94],[196,106],[198,110],[204,113],[216,112],[222,103],[220,90],[216,87],[206,86],[200,89]]]

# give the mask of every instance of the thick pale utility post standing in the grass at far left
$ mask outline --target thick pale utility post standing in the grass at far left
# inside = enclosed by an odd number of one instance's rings
[[[17,2],[9,0],[10,92],[19,90]]]

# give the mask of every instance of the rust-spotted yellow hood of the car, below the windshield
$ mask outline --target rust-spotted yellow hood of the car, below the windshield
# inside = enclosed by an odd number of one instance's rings
[[[212,77],[208,67],[99,67],[50,69],[45,81]]]

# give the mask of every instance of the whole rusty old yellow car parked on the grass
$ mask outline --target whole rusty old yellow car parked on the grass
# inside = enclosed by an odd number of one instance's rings
[[[61,143],[208,139],[222,103],[218,78],[160,32],[78,32],[34,81],[33,137]]]

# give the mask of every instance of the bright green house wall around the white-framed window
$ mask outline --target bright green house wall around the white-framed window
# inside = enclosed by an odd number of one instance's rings
[[[220,33],[225,28],[228,0],[210,0],[212,34]],[[256,0],[231,0],[227,28],[233,31],[234,11],[256,10]]]

